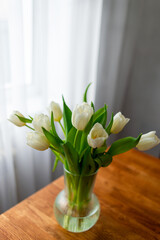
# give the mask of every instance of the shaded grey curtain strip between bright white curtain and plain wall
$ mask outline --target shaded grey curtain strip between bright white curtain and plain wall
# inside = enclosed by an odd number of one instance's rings
[[[119,81],[120,64],[123,61],[121,54],[126,38],[125,29],[128,5],[128,0],[103,1],[96,107],[99,108],[104,103],[107,103],[109,106],[109,115],[111,114],[111,109],[115,111],[115,96],[118,99],[118,107],[122,102],[122,99],[119,98],[119,93],[122,91],[117,91],[117,84]],[[123,90],[125,81],[122,80],[120,83]]]

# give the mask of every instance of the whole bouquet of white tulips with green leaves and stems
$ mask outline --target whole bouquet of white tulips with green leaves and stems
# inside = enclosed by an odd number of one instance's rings
[[[77,105],[73,112],[67,106],[63,98],[63,113],[58,103],[51,102],[49,116],[36,114],[34,118],[24,117],[18,111],[13,112],[9,120],[15,125],[26,126],[32,130],[27,133],[27,144],[32,148],[43,151],[48,148],[55,155],[53,170],[56,169],[58,161],[64,164],[64,169],[79,176],[67,176],[68,199],[70,207],[78,205],[82,208],[84,202],[88,201],[90,183],[82,181],[82,176],[92,176],[100,167],[107,167],[113,156],[126,152],[134,147],[139,150],[148,150],[160,143],[155,131],[147,134],[140,134],[137,138],[126,137],[111,144],[107,149],[106,140],[111,134],[119,133],[130,119],[125,118],[121,112],[111,115],[107,124],[107,106],[95,111],[94,104],[87,103],[87,86],[83,103]],[[63,118],[63,123],[61,119]],[[64,133],[61,139],[56,131],[55,121],[58,122]],[[30,126],[32,124],[32,126]],[[107,150],[106,150],[107,149]],[[85,190],[84,190],[85,189]],[[72,200],[72,201],[71,201]],[[70,211],[67,211],[66,216]],[[67,219],[67,220],[66,220]],[[63,226],[68,224],[68,218],[64,218]]]

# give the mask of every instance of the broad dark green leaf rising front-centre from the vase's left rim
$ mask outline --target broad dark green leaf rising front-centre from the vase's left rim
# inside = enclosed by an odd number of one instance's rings
[[[72,144],[70,142],[64,143],[63,149],[70,172],[79,173],[79,156]]]

